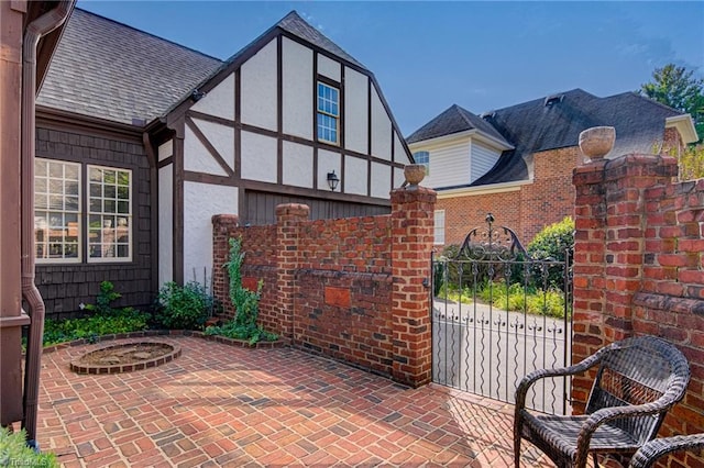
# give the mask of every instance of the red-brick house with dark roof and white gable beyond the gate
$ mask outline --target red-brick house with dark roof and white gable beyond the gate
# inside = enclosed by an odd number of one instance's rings
[[[616,127],[607,157],[652,153],[696,141],[682,114],[634,92],[597,98],[581,89],[475,115],[452,105],[407,137],[424,185],[438,191],[436,244],[461,243],[486,213],[527,244],[572,215],[579,134]]]

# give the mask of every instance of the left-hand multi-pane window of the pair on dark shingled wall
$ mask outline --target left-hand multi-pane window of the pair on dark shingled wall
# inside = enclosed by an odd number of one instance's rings
[[[34,161],[36,259],[80,261],[80,165]]]

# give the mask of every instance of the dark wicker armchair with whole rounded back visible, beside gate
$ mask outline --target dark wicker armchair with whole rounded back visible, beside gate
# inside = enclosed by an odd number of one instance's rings
[[[529,412],[528,389],[546,377],[571,376],[598,365],[584,415]],[[588,454],[634,454],[656,436],[667,411],[684,395],[690,366],[674,346],[654,336],[639,336],[603,347],[578,365],[537,370],[516,390],[514,458],[520,441],[540,448],[559,467],[586,466]]]

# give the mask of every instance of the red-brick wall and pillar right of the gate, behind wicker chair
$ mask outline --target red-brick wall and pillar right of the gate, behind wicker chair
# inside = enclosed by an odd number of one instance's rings
[[[661,435],[704,432],[704,180],[678,183],[676,175],[674,158],[628,155],[590,163],[573,179],[572,359],[632,335],[675,344],[692,380]],[[573,385],[583,410],[590,380]]]

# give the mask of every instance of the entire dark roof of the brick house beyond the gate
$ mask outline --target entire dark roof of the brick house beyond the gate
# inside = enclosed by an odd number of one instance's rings
[[[408,143],[469,130],[469,126],[462,127],[459,118],[453,118],[455,108],[461,109],[457,105],[448,109],[413,133]],[[515,147],[502,153],[488,172],[468,186],[526,180],[535,153],[576,146],[580,133],[592,126],[616,127],[614,148],[606,157],[651,153],[653,145],[662,141],[666,119],[682,114],[635,92],[598,98],[581,89],[499,109],[484,119],[464,112],[484,121]],[[488,133],[479,125],[473,126]]]

